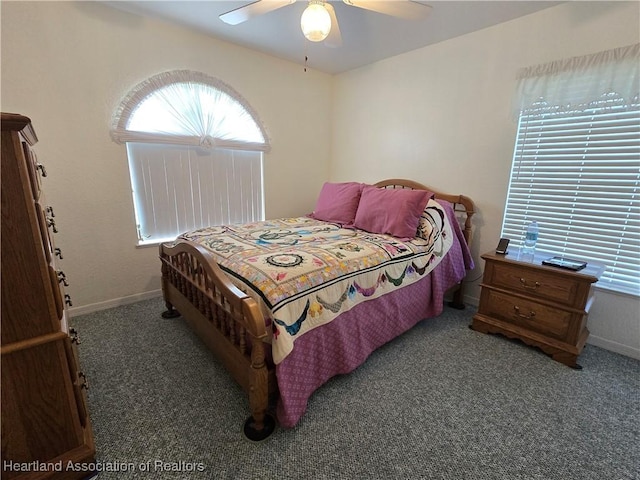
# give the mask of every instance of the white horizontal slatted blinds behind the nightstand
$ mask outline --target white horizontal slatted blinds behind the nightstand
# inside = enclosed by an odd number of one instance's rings
[[[615,93],[579,108],[539,101],[519,118],[502,236],[607,268],[599,287],[640,295],[640,105]]]

